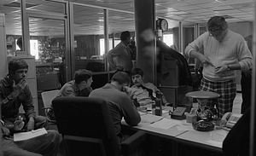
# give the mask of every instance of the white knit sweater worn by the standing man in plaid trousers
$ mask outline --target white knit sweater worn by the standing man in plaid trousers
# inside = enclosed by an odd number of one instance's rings
[[[185,55],[190,52],[200,51],[207,56],[214,66],[204,64],[203,76],[213,82],[224,82],[236,78],[236,71],[227,71],[222,74],[215,73],[215,66],[230,65],[239,63],[241,70],[250,69],[253,66],[253,57],[247,47],[247,43],[242,36],[236,32],[228,30],[221,42],[209,36],[209,32],[201,34],[195,41],[189,43],[185,49]]]

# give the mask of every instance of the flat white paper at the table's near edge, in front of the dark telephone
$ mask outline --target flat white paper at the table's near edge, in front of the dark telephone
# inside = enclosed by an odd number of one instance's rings
[[[171,119],[162,118],[160,121],[157,121],[154,124],[150,124],[148,126],[168,130],[168,129],[172,128],[173,126],[180,124],[180,123],[181,123],[180,121],[174,121]]]

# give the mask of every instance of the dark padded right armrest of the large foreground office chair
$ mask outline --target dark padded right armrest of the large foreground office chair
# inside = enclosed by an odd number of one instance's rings
[[[132,153],[139,147],[143,142],[145,142],[147,132],[143,130],[137,131],[134,135],[127,138],[124,142],[121,142],[122,153]]]

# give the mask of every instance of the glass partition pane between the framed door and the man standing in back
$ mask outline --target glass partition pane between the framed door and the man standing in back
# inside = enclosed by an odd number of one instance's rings
[[[101,51],[101,39],[104,38],[103,9],[73,5],[73,34],[75,71],[87,69],[104,72],[104,51]]]

